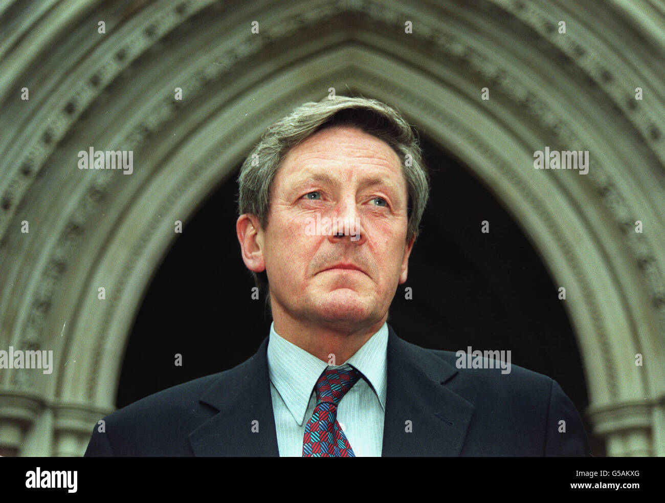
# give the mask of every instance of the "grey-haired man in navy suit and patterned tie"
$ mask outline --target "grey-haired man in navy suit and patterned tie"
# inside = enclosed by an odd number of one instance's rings
[[[589,454],[549,377],[487,359],[458,369],[456,353],[386,323],[429,192],[395,110],[304,104],[269,127],[238,181],[237,238],[273,315],[269,337],[231,370],[109,415],[86,456]]]

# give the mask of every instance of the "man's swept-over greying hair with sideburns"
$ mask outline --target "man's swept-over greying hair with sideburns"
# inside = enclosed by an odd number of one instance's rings
[[[269,126],[240,168],[238,214],[253,214],[261,228],[267,228],[273,180],[285,155],[316,132],[331,126],[354,126],[383,140],[396,152],[408,187],[406,240],[416,238],[430,192],[430,176],[422,160],[418,137],[399,112],[369,98],[337,96],[334,100],[307,102]],[[259,289],[265,292],[269,306],[267,274],[252,271],[252,275]]]

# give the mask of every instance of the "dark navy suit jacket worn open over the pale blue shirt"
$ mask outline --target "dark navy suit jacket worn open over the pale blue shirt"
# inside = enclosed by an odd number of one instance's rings
[[[85,455],[279,456],[267,344],[233,369],[108,415]],[[457,369],[456,360],[454,352],[403,341],[388,325],[383,456],[590,455],[579,415],[556,381],[517,365],[509,374]]]

